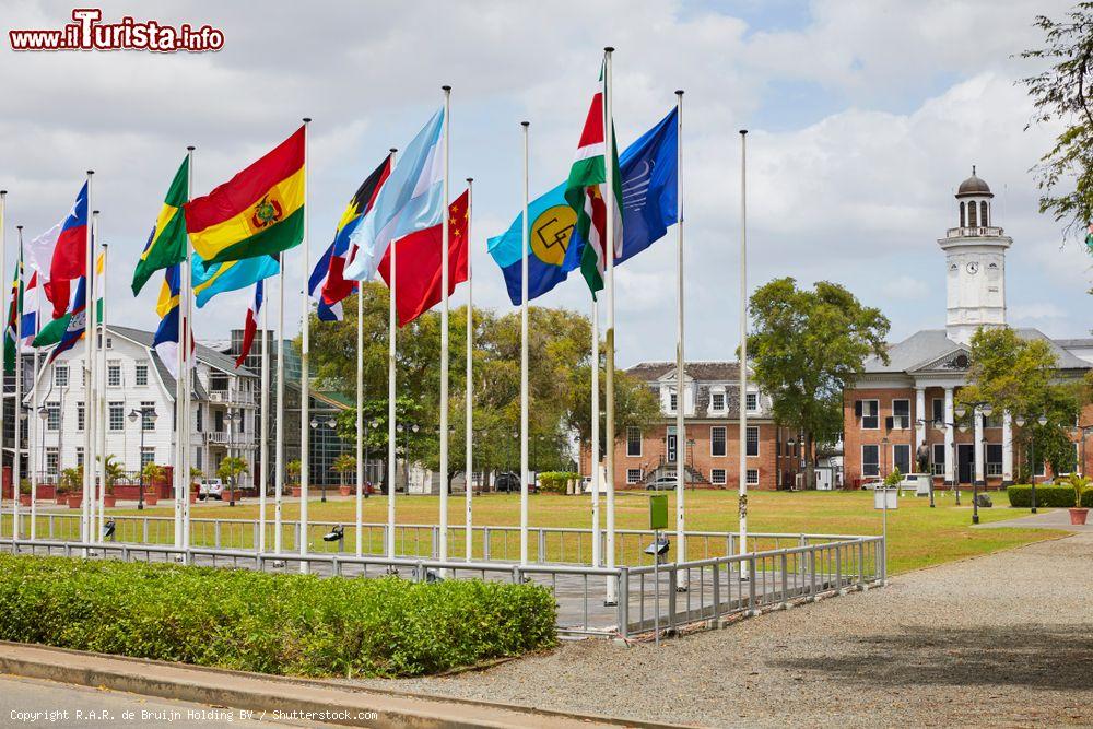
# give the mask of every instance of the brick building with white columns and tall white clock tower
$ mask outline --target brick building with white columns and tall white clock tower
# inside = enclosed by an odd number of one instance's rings
[[[1016,475],[1015,413],[954,418],[954,400],[967,383],[972,336],[980,327],[1006,326],[1006,250],[1013,240],[994,225],[990,188],[975,175],[957,192],[959,226],[938,240],[945,255],[947,325],[918,331],[888,350],[890,363],[866,362],[865,375],[844,393],[846,483],[904,473],[921,466],[936,484],[1009,485]],[[1059,363],[1061,380],[1093,368],[1093,340],[1051,340],[1036,329],[1018,329],[1024,339],[1046,340]],[[967,431],[960,425],[971,424]],[[1077,425],[1093,424],[1086,408]],[[1093,470],[1093,449],[1076,428],[1079,470]],[[1036,472],[1044,475],[1043,463]]]

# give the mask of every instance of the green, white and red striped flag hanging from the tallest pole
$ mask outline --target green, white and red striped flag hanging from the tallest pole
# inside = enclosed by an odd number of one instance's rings
[[[585,246],[581,249],[580,272],[588,282],[592,296],[603,289],[604,249],[607,248],[608,205],[613,209],[614,226],[613,248],[618,257],[622,254],[622,215],[619,201],[622,199],[622,176],[619,174],[619,153],[614,144],[614,122],[612,126],[611,164],[613,165],[612,187],[607,189],[607,125],[604,124],[603,92],[604,73],[600,69],[600,86],[592,96],[585,118],[585,128],[577,143],[577,154],[569,167],[569,179],[565,184],[565,199],[577,214],[575,230],[580,234]],[[610,198],[610,202],[608,199]]]

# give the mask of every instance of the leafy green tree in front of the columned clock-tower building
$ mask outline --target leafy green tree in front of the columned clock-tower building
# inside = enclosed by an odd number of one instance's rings
[[[1021,442],[1025,446],[1021,475],[1031,472],[1032,448],[1056,473],[1074,468],[1074,447],[1068,427],[1080,410],[1081,381],[1058,376],[1058,357],[1043,339],[1022,339],[1009,327],[982,327],[972,336],[968,385],[956,400],[965,405],[989,402],[995,412],[1025,415]],[[1037,422],[1039,415],[1047,424]],[[968,414],[971,418],[971,414]],[[1023,480],[1023,479],[1021,479]]]

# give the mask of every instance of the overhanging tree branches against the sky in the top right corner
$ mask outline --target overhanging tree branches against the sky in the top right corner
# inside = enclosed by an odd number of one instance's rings
[[[1039,210],[1065,224],[1065,235],[1093,222],[1093,2],[1080,2],[1061,21],[1038,15],[1044,47],[1021,54],[1046,60],[1046,70],[1022,79],[1036,108],[1034,122],[1061,121],[1062,132],[1035,167]]]

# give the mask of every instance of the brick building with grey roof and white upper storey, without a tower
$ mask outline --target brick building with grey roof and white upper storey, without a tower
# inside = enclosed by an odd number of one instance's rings
[[[696,487],[738,489],[740,485],[740,387],[736,362],[691,362],[684,367],[683,414],[686,444],[675,432],[677,392],[674,362],[643,362],[626,371],[646,384],[660,402],[661,421],[628,427],[615,442],[616,489],[644,489],[661,475],[674,475],[683,461],[686,480]],[[749,385],[744,397],[748,415],[748,481],[751,489],[788,487],[800,470],[799,438],[779,428],[771,416],[771,400]],[[584,444],[580,471],[588,474],[588,444]]]

